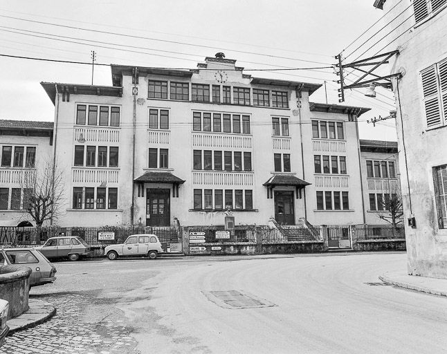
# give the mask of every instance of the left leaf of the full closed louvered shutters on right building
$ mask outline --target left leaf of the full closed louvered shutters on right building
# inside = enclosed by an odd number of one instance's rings
[[[439,106],[439,89],[435,65],[421,72],[423,103],[426,108],[427,128],[441,124],[441,109]]]

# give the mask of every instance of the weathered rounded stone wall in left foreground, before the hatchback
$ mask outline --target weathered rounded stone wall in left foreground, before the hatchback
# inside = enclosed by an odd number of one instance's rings
[[[31,269],[22,265],[0,267],[0,299],[9,302],[8,319],[28,310]]]

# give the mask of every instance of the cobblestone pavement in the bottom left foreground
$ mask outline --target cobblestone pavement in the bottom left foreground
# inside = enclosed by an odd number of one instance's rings
[[[59,293],[38,298],[55,306],[55,317],[6,337],[0,353],[140,353],[130,336],[132,328],[125,326],[122,317],[116,315],[119,310],[104,304],[107,299],[97,299],[89,293]],[[102,306],[108,313],[104,318],[89,316],[92,305]]]

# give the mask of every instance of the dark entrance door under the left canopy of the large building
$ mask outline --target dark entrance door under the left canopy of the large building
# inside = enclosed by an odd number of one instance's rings
[[[170,225],[170,189],[147,189],[146,226]]]

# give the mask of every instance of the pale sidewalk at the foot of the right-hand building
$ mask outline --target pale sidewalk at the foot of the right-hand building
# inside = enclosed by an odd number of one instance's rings
[[[378,277],[378,279],[394,286],[400,286],[401,288],[447,297],[447,279],[417,277],[408,275],[405,272],[386,272]]]

